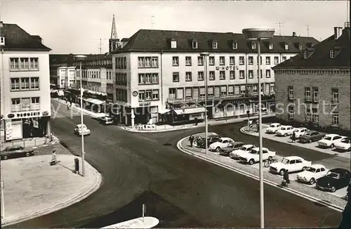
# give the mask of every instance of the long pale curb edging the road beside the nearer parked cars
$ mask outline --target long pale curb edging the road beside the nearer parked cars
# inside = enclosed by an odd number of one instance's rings
[[[218,166],[221,166],[221,167],[223,167],[223,168],[225,168],[225,169],[229,169],[229,170],[231,170],[231,171],[237,172],[238,174],[241,174],[241,175],[244,175],[244,176],[247,176],[247,177],[250,177],[250,178],[254,178],[256,181],[259,181],[259,180],[260,180],[260,178],[259,178],[258,176],[256,176],[256,175],[249,174],[249,173],[246,172],[246,171],[241,171],[241,170],[236,169],[236,168],[234,168],[234,167],[232,167],[232,166],[228,166],[227,164],[223,164],[223,163],[221,163],[221,162],[217,162],[217,161],[215,161],[215,160],[213,160],[213,159],[209,159],[209,158],[203,157],[203,156],[201,156],[201,155],[194,154],[194,153],[191,152],[190,150],[187,150],[187,149],[183,148],[183,146],[181,145],[181,143],[183,142],[183,140],[185,140],[185,139],[187,139],[187,138],[189,138],[189,137],[182,138],[182,139],[180,139],[180,140],[178,141],[178,143],[177,143],[177,148],[178,148],[178,150],[180,150],[180,151],[182,151],[182,152],[185,152],[185,153],[187,153],[188,155],[193,155],[194,157],[198,157],[198,158],[200,158],[200,159],[204,159],[206,162],[211,162],[211,163],[216,164],[216,165],[218,165]],[[268,180],[266,180],[266,179],[263,179],[263,182],[266,183],[266,184],[268,184],[268,185],[271,185],[271,186],[273,186],[273,187],[275,187],[275,188],[279,188],[279,184],[278,184],[278,183],[274,183],[274,182],[268,181]],[[324,206],[329,207],[329,208],[331,208],[331,209],[333,209],[333,210],[336,210],[336,211],[339,211],[339,212],[343,212],[343,210],[344,210],[344,209],[341,208],[341,207],[338,207],[338,206],[336,206],[336,205],[334,205],[334,204],[329,204],[329,202],[325,202],[325,201],[322,200],[322,199],[317,199],[317,198],[312,197],[312,196],[310,196],[310,195],[306,195],[306,194],[304,194],[303,192],[298,192],[298,191],[293,190],[293,189],[291,189],[291,188],[281,188],[281,189],[282,189],[282,190],[286,190],[287,192],[290,192],[290,193],[292,193],[292,194],[298,195],[298,196],[300,196],[300,197],[303,197],[303,198],[305,198],[305,199],[308,199],[308,200],[310,200],[310,201],[317,202],[317,203],[319,203],[319,204],[323,204]]]

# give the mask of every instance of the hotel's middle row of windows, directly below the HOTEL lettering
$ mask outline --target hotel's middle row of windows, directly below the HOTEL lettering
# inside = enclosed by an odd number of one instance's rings
[[[253,72],[254,72],[253,70],[249,70],[249,79],[253,79]],[[225,73],[226,73],[225,71],[219,71],[219,79],[220,80],[227,79]],[[260,77],[263,78],[263,71],[262,70],[260,70]],[[266,78],[271,77],[270,70],[265,71],[265,77]],[[179,72],[173,72],[172,79],[173,79],[173,82],[179,82],[180,81]],[[216,80],[216,72],[215,71],[208,72],[208,79],[211,81]],[[229,79],[236,79],[234,70],[231,70],[229,72]],[[244,70],[239,70],[239,79],[245,79],[245,71]],[[192,81],[192,72],[185,72],[185,81]],[[204,81],[204,72],[202,72],[202,71],[197,72],[197,81]]]

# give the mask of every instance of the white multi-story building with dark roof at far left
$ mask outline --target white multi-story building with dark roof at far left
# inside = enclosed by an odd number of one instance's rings
[[[48,135],[51,49],[15,24],[0,22],[0,37],[1,140]]]

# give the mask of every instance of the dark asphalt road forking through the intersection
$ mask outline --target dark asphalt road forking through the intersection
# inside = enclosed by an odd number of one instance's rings
[[[65,109],[52,121],[53,132],[79,154],[80,138],[73,135],[79,117],[63,117]],[[147,202],[147,214],[160,218],[163,227],[259,227],[258,181],[176,149],[180,138],[204,128],[141,134],[101,126],[90,117],[85,117],[85,123],[92,131],[85,138],[86,159],[102,173],[101,188],[72,207],[20,223],[18,228],[102,227],[135,218],[133,214],[140,216],[143,202]],[[210,131],[257,143],[256,137],[239,133],[242,125],[211,126]],[[265,140],[265,144],[286,150],[282,143]],[[311,150],[303,152],[317,158]],[[138,202],[133,204],[133,199]],[[265,186],[267,227],[331,227],[339,221],[336,211]]]

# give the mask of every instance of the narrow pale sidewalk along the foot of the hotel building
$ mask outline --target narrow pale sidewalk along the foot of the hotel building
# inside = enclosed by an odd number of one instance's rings
[[[270,114],[263,114],[262,118],[265,117],[274,117],[275,113],[270,113]],[[252,117],[256,117],[255,115],[250,116],[251,119]],[[230,119],[220,119],[220,120],[208,120],[208,126],[217,126],[217,125],[222,125],[222,124],[227,124],[227,123],[234,123],[234,122],[242,122],[246,121],[247,117],[239,117],[239,118],[230,118]],[[205,126],[205,122],[199,122],[197,126],[195,124],[185,124],[185,125],[180,125],[180,126],[171,126],[168,124],[165,125],[154,125],[155,129],[152,130],[139,130],[139,129],[133,129],[131,126],[119,126],[121,129],[125,129],[126,131],[131,131],[131,132],[139,132],[139,133],[157,133],[157,132],[167,132],[167,131],[177,131],[181,129],[192,129],[192,128],[197,128],[201,126]]]

